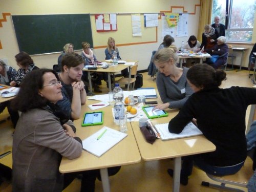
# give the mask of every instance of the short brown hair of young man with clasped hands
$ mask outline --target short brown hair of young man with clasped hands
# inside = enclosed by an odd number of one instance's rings
[[[84,63],[84,60],[81,55],[78,55],[77,53],[74,53],[74,52],[67,53],[61,59],[61,72],[64,72],[64,66],[71,68],[71,67],[76,67],[81,63]]]

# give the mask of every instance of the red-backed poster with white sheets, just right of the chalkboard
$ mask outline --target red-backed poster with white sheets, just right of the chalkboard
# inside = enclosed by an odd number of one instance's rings
[[[96,14],[95,23],[97,32],[117,31],[116,14]]]

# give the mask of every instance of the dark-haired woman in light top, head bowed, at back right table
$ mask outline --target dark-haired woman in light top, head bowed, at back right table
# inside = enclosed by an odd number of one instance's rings
[[[193,52],[197,52],[200,48],[200,42],[197,40],[197,37],[195,35],[191,35],[185,46],[184,49],[188,50],[188,51],[193,51]],[[192,61],[195,61],[195,63],[199,63],[200,62],[200,58],[187,58],[186,59],[186,67],[191,67]]]

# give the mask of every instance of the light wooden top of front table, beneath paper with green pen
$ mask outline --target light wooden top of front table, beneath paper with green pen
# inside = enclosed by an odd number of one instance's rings
[[[119,130],[119,125],[116,125],[114,123],[111,105],[106,106],[105,108],[101,108],[99,110],[95,110],[104,112],[103,125],[85,127],[81,126],[84,113],[91,111],[87,105],[96,102],[99,101],[87,100],[87,103],[85,105],[82,105],[82,113],[80,118],[74,120],[77,129],[76,135],[82,140],[97,132],[103,126],[108,126],[112,129]],[[83,151],[82,155],[79,158],[73,160],[62,158],[59,166],[59,171],[61,173],[70,173],[78,172],[81,170],[90,170],[139,163],[141,161],[141,156],[130,123],[127,123],[127,129],[127,136],[119,143],[117,143],[114,147],[112,147],[108,152],[103,154],[101,157],[97,157],[87,151]]]

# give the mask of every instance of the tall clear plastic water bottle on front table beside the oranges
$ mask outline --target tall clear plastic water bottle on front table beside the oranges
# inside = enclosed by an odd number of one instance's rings
[[[113,90],[114,104],[114,122],[119,124],[119,117],[124,117],[123,90],[119,87],[119,83],[115,83]]]

